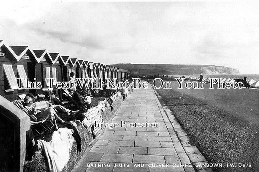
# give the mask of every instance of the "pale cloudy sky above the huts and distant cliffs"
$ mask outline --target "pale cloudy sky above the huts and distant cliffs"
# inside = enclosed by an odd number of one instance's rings
[[[0,40],[103,64],[259,74],[259,2],[1,2]]]

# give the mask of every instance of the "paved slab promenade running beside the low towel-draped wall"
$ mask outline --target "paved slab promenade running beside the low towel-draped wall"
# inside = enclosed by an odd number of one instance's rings
[[[126,98],[112,123],[121,120],[160,127],[105,128],[73,172],[194,172],[151,86]]]

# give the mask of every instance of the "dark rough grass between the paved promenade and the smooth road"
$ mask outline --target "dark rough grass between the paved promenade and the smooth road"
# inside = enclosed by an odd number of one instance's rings
[[[156,89],[208,163],[222,163],[216,171],[259,171],[259,126],[177,89]],[[213,97],[211,97],[213,99]],[[227,163],[249,167],[227,167]]]

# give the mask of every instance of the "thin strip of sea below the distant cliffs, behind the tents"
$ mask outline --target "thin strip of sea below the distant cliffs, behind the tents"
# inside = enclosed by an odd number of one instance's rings
[[[247,80],[254,79],[255,81],[259,80],[259,74],[217,74],[217,75],[207,75],[207,74],[202,74],[203,78],[230,78],[230,79],[243,79],[244,77],[247,77]],[[182,76],[182,75],[179,75]],[[192,76],[192,77],[199,77],[200,75],[184,75],[184,76]]]

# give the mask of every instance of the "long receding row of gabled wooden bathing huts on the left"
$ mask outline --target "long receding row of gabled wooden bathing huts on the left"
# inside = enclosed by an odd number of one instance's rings
[[[0,40],[0,95],[13,101],[19,94],[37,92],[42,94],[48,88],[45,78],[55,78],[57,81],[69,81],[69,75],[74,72],[75,78],[116,78],[121,81],[127,78],[127,70],[72,58],[60,53],[51,53],[46,49],[34,50],[29,46],[9,46]],[[26,81],[18,85],[17,78],[28,78],[30,82],[41,82],[41,89],[27,89]],[[53,87],[55,89],[55,87]],[[59,96],[62,96],[59,89]]]

